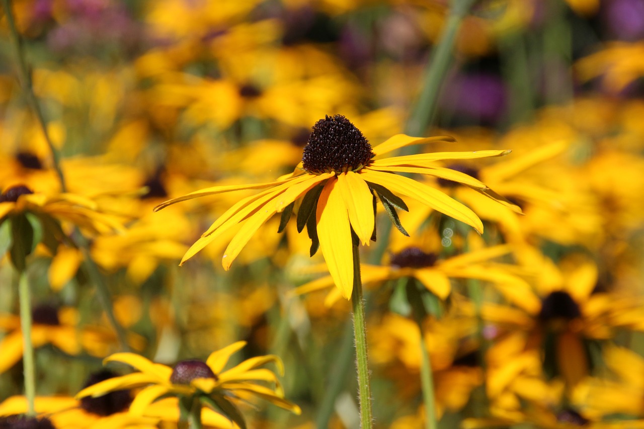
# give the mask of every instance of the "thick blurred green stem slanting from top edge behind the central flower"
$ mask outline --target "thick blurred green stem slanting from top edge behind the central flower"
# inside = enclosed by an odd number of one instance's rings
[[[452,0],[450,14],[440,35],[439,43],[426,66],[422,91],[407,122],[408,135],[423,135],[425,129],[434,121],[440,87],[450,68],[456,35],[463,18],[476,0]],[[412,150],[415,146],[412,147]],[[403,151],[404,152],[404,151]]]

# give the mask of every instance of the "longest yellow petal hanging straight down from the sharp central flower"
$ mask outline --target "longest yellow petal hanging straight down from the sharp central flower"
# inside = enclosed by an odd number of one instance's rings
[[[354,287],[353,243],[345,202],[336,184],[337,180],[329,180],[317,200],[317,238],[328,271],[348,300]]]

